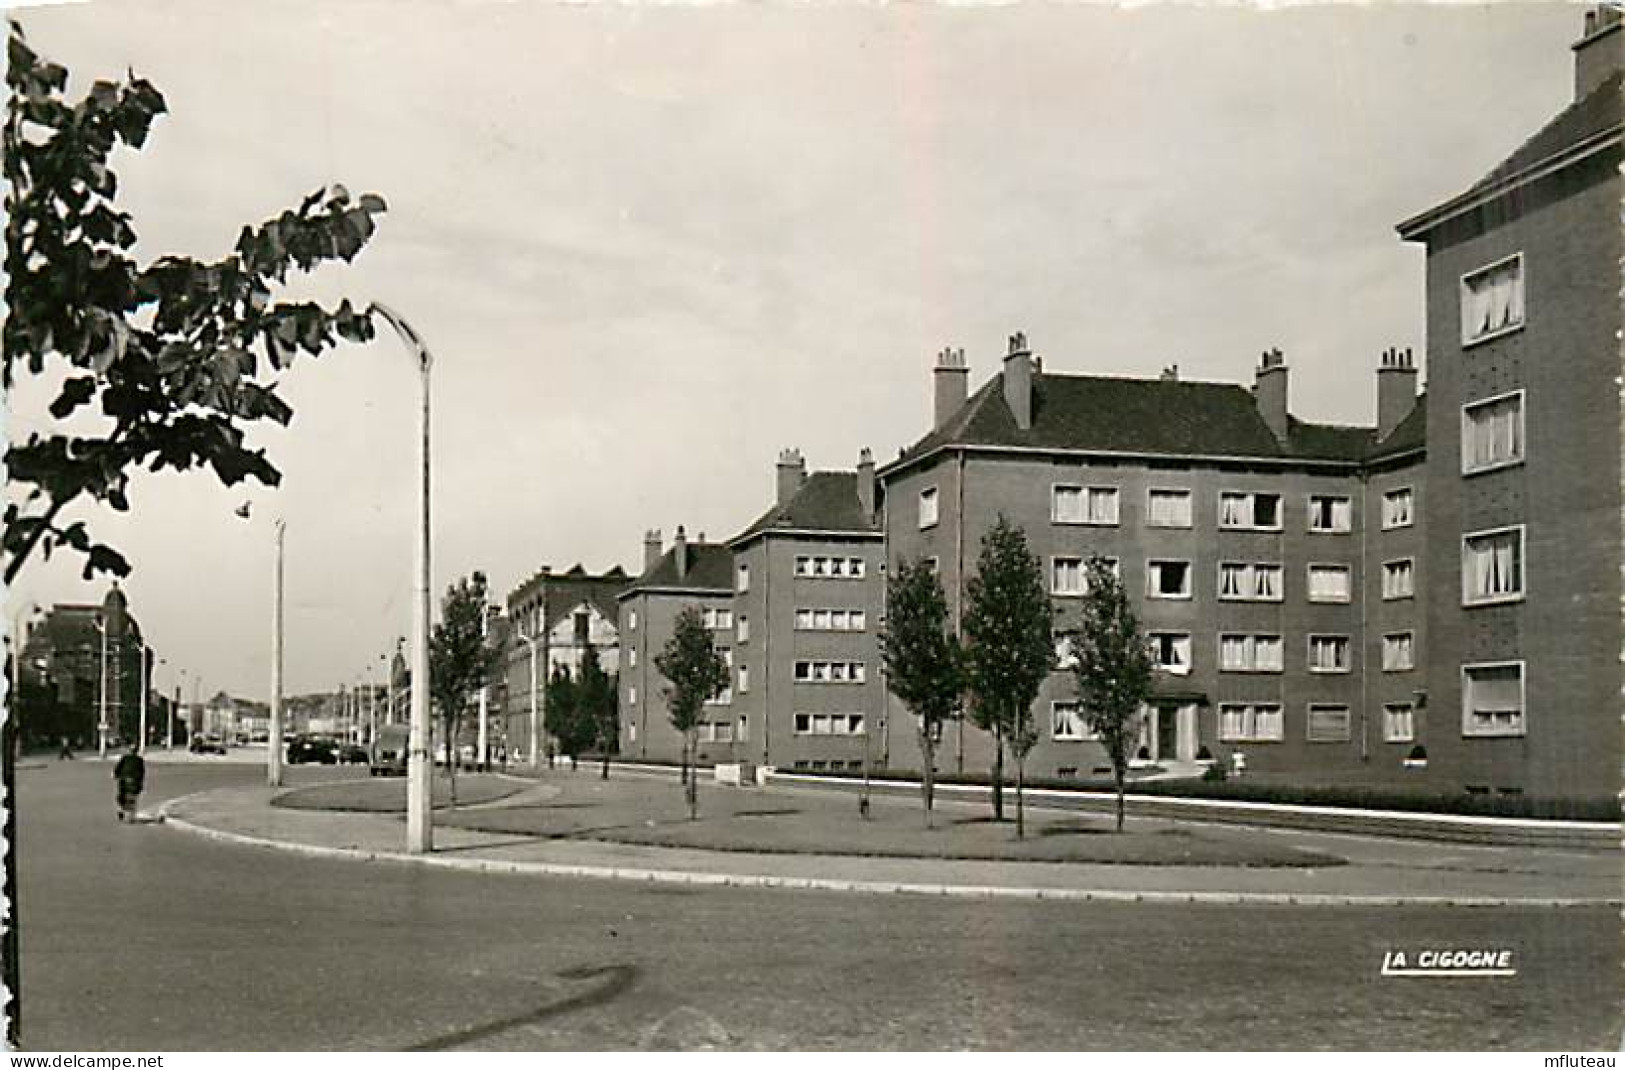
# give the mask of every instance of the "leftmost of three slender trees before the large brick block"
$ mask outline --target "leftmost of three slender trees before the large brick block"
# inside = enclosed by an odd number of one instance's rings
[[[960,652],[947,626],[947,598],[930,561],[902,561],[886,577],[886,626],[881,629],[886,686],[915,717],[925,769],[920,790],[925,824],[936,802],[936,743],[959,709]]]

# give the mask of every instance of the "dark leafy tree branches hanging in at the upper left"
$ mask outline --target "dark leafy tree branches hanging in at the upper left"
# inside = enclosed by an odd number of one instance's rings
[[[127,255],[136,234],[117,208],[107,161],[120,145],[146,143],[167,111],[162,94],[132,75],[96,81],[68,102],[68,72],[36,55],[15,21],[6,60],[0,382],[10,390],[20,374],[49,372],[62,387],[50,403],[58,429],[6,449],[8,478],[26,489],[5,509],[0,559],[6,582],[34,550],[49,556],[57,546],[84,555],[86,579],[125,576],[128,561],[93,542],[83,520],[63,524],[63,509],[94,501],[127,511],[130,475],[141,468],[208,465],[228,486],[276,485],[281,473],[244,436],[255,421],[292,416],[275,379],[260,377],[260,354],[275,376],[301,350],[320,356],[341,338],[372,338],[372,319],[349,301],[335,309],[276,301],[273,285],[354,259],[385,205],[333,185],[242,228],[219,260],[166,255],[138,265]]]

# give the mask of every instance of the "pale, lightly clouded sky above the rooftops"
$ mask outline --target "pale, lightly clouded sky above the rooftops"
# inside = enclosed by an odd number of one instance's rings
[[[343,182],[390,205],[292,296],[385,301],[434,353],[434,589],[543,564],[637,571],[723,540],[774,463],[882,463],[1004,340],[1046,371],[1250,382],[1372,423],[1388,346],[1425,346],[1394,224],[1571,96],[1576,5],[80,3],[13,11],[70,93],[169,101],[115,158],[143,262],[218,259]],[[44,426],[49,377],[8,398]],[[81,509],[135,566],[158,686],[265,698],[271,525],[288,693],[382,680],[410,626],[418,381],[395,337],[283,372],[257,428],[281,486],[141,475]],[[252,501],[250,517],[234,509]],[[8,592],[99,602],[70,553]],[[180,672],[185,670],[185,676]]]

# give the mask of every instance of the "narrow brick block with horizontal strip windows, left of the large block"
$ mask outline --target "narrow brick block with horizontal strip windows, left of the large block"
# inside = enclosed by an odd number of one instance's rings
[[[774,506],[728,540],[739,759],[806,771],[881,759],[876,491],[869,450],[853,472],[811,475],[798,450],[785,450]]]

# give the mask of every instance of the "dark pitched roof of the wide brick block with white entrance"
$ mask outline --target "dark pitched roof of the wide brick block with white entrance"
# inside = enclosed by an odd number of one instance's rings
[[[1032,426],[1017,428],[993,376],[938,431],[904,450],[907,462],[939,446],[1016,446],[1172,457],[1261,457],[1357,462],[1370,428],[1292,418],[1282,444],[1258,413],[1253,392],[1228,382],[1034,374]]]

